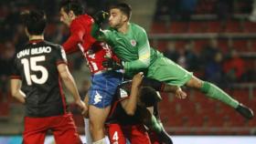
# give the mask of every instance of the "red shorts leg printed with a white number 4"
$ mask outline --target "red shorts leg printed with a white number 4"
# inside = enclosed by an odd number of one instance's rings
[[[123,129],[121,129],[119,124],[108,124],[107,129],[111,144],[126,144]]]

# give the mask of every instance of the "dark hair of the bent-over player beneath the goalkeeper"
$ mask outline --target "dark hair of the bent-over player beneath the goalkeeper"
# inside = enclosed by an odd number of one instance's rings
[[[152,107],[156,102],[161,100],[161,96],[152,87],[142,87],[140,92],[140,100],[146,107]]]

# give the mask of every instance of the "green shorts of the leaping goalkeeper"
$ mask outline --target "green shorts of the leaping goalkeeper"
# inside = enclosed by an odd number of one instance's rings
[[[148,67],[147,76],[169,85],[183,86],[193,76],[183,67],[178,66],[166,57],[158,57],[153,64]]]

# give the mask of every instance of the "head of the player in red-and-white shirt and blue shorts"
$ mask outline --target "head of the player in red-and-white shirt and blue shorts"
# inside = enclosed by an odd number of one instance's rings
[[[83,14],[83,7],[79,1],[64,0],[59,6],[60,22],[69,26],[78,15]]]

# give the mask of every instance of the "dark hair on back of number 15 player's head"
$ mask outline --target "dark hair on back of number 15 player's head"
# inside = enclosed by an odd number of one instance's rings
[[[47,26],[47,17],[40,10],[22,12],[21,20],[30,35],[42,35]]]

